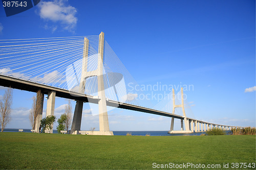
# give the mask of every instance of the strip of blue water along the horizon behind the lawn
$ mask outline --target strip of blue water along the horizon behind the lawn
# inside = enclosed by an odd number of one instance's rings
[[[23,129],[24,132],[31,133],[30,129]],[[1,132],[1,129],[0,129]],[[18,132],[18,129],[5,129],[4,132]],[[132,135],[145,136],[149,134],[150,136],[194,136],[201,135],[205,132],[197,133],[177,133],[177,134],[168,134],[168,131],[113,131],[114,135],[126,135],[127,133],[132,133]],[[230,131],[226,131],[230,132]],[[57,130],[53,130],[53,133],[58,133]]]

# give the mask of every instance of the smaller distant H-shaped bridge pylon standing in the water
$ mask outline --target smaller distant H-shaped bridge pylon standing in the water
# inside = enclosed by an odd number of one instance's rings
[[[183,87],[181,87],[181,105],[176,105],[175,104],[175,93],[173,89],[173,114],[175,114],[175,108],[181,107],[182,108],[182,113],[183,113],[183,118],[181,120],[181,130],[180,131],[174,131],[174,117],[172,117],[171,123],[170,123],[170,131],[168,133],[191,133],[191,127],[189,126],[189,119],[187,119],[186,113],[185,113],[185,108],[184,108],[184,100],[183,100]],[[183,127],[183,121],[185,125],[185,130]],[[189,128],[190,127],[190,128]]]

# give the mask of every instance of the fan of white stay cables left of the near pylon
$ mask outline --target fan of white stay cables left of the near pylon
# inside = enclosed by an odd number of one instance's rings
[[[98,36],[87,38],[97,48]],[[82,59],[83,42],[84,36],[0,40],[0,74],[69,89],[66,72]]]

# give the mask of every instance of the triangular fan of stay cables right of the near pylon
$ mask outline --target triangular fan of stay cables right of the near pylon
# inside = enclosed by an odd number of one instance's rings
[[[104,42],[103,74],[105,95],[107,98],[137,106],[151,108],[151,101],[135,87],[138,83],[112,50],[108,42]]]

